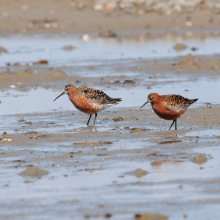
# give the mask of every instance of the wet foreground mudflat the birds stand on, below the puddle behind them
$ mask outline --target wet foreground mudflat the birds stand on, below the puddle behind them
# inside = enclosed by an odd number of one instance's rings
[[[2,219],[207,219],[209,211],[217,218],[219,105],[189,109],[177,131],[149,106],[104,111],[96,126],[87,127],[87,118],[72,111],[4,116]],[[28,173],[33,166],[48,174]]]

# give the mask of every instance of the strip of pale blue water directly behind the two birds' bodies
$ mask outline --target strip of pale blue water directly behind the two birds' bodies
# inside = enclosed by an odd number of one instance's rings
[[[121,89],[103,89],[111,97],[120,97],[122,102],[115,107],[108,110],[112,111],[121,107],[137,107],[139,108],[146,100],[151,92],[157,92],[160,95],[167,94],[181,94],[187,98],[199,98],[198,102],[191,107],[196,107],[199,103],[220,103],[220,98],[213,96],[215,93],[220,93],[219,80],[201,80],[196,82],[175,82],[172,84],[165,84],[155,86],[151,89],[145,87],[121,88]],[[53,102],[60,91],[50,89],[36,89],[28,92],[21,92],[17,90],[9,90],[0,92],[1,100],[1,114],[15,114],[15,113],[32,113],[44,112],[54,110],[70,110],[76,111],[67,96],[63,96]],[[16,96],[16,97],[15,97]],[[22,103],[22,104],[21,104]],[[150,106],[150,105],[149,105]]]

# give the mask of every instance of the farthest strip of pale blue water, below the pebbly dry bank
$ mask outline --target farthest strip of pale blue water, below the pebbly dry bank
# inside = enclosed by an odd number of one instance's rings
[[[183,51],[173,49],[175,43],[184,43]],[[53,37],[36,35],[31,37],[1,37],[0,45],[8,50],[1,54],[0,66],[7,63],[28,64],[46,59],[49,66],[91,65],[118,59],[163,58],[186,54],[209,55],[220,53],[219,38],[182,38],[180,36],[164,36],[155,39],[139,38],[131,41],[127,38],[102,39],[91,38],[84,42],[76,37]],[[66,45],[74,47],[71,51],[62,48]],[[191,48],[198,48],[192,51]]]

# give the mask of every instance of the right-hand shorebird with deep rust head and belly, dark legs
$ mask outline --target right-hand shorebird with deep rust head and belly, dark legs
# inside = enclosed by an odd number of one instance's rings
[[[158,95],[151,93],[148,95],[148,100],[141,108],[147,103],[151,103],[154,112],[165,120],[173,120],[169,130],[175,122],[175,129],[177,130],[177,118],[186,112],[187,108],[196,102],[198,99],[187,99],[181,95]]]

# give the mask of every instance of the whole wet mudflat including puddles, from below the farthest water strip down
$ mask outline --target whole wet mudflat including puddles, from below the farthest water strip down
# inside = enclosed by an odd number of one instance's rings
[[[217,56],[179,65],[190,59],[195,58],[60,70],[2,67],[10,73],[1,74],[1,219],[135,219],[144,213],[217,218],[220,106],[211,94],[219,77],[207,66]],[[102,89],[123,102],[100,112],[97,125],[87,127],[88,116],[66,96],[53,103],[69,82]],[[200,97],[204,88],[210,89]],[[158,118],[150,105],[139,110],[153,91],[200,100],[178,120],[179,130],[168,131],[171,121]]]

